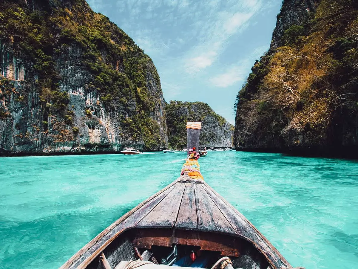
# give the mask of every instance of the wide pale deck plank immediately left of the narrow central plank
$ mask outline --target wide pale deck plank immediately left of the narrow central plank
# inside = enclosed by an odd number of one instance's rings
[[[136,228],[173,227],[182,202],[185,183],[177,183],[163,200],[160,201],[137,225]],[[157,227],[158,228],[158,227]]]

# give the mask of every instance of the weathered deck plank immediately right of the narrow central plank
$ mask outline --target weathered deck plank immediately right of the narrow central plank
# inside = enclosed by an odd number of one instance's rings
[[[232,233],[236,235],[230,223],[204,190],[203,184],[194,184],[194,191],[199,230]]]

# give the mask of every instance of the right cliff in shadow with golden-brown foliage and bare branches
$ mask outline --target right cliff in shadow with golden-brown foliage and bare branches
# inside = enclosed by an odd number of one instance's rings
[[[357,157],[358,3],[285,0],[237,95],[235,147]]]

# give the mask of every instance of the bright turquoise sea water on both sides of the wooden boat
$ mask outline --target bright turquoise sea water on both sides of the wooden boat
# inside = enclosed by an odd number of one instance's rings
[[[171,183],[185,154],[0,158],[0,268],[58,268]],[[293,266],[358,268],[358,162],[250,152],[199,159],[211,187]]]

